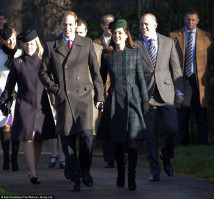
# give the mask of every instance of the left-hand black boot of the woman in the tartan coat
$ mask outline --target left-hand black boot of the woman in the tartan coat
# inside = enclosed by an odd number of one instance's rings
[[[115,160],[117,163],[117,186],[124,187],[125,185],[125,165],[124,165],[124,150],[123,147],[115,149]]]

